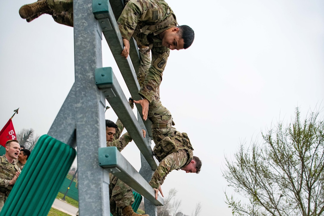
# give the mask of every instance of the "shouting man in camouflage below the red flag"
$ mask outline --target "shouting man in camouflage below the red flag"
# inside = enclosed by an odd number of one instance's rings
[[[21,172],[19,167],[14,164],[20,151],[20,145],[17,140],[8,140],[6,142],[6,154],[0,156],[0,211],[4,206],[12,187]]]

